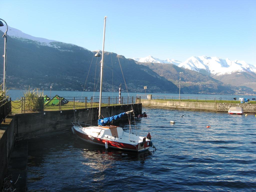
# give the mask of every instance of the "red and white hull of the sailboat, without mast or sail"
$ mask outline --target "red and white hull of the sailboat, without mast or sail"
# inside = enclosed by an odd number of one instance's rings
[[[81,126],[75,126],[75,125],[72,126],[72,132],[76,134],[78,138],[80,138],[81,140],[91,144],[105,146],[105,142],[107,142],[109,148],[115,148],[115,149],[126,150],[126,151],[134,151],[134,152],[147,151],[150,148],[149,139],[144,138],[144,142],[143,142],[143,137],[130,134],[130,137],[128,137],[130,139],[129,140],[127,139],[128,135],[126,136],[124,135],[129,133],[126,133],[126,132],[121,133],[122,128],[120,127],[115,127],[115,126],[111,126],[111,127],[114,127],[114,129],[119,128],[117,134],[119,135],[122,134],[122,136],[120,137],[123,137],[123,139],[112,136],[108,128],[104,128],[104,127],[92,127],[92,129],[94,130],[95,129],[101,130],[100,133],[103,132],[103,134],[98,134],[98,135],[89,134],[88,132],[90,132],[90,127],[81,127]],[[107,133],[104,134],[104,132],[107,132]],[[108,134],[108,132],[110,132],[110,134]]]

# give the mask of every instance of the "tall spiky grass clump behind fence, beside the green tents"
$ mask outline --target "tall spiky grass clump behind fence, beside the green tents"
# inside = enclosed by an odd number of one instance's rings
[[[30,87],[24,95],[24,109],[25,111],[39,112],[44,110],[44,92],[39,89],[30,91]]]

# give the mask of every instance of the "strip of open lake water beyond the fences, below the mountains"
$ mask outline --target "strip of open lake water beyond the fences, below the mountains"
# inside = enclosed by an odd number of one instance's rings
[[[9,95],[12,100],[18,100],[21,97],[23,97],[23,93],[26,92],[26,90],[8,90],[7,95]],[[48,97],[54,97],[55,95],[59,95],[60,97],[99,97],[100,93],[99,92],[82,92],[82,91],[44,91],[45,95],[48,95]],[[152,94],[152,95],[165,95],[165,96],[174,96],[174,97],[179,97],[179,94],[175,94],[175,93],[129,93],[129,96],[136,96],[137,94],[139,95],[148,95],[148,94]],[[119,97],[119,93],[118,92],[103,92],[102,96],[104,97]],[[121,96],[128,96],[127,92],[122,92]],[[143,97],[142,96],[142,97]],[[185,98],[195,98],[198,97],[198,99],[205,99],[207,98],[208,100],[214,100],[214,98],[252,98],[255,96],[252,95],[209,95],[209,94],[180,94],[181,97],[185,97]],[[146,98],[146,96],[145,96]]]

